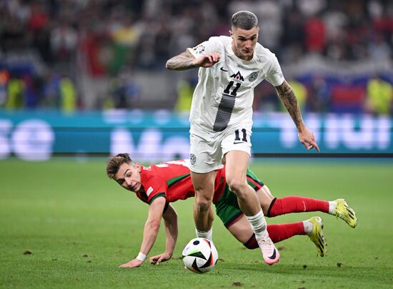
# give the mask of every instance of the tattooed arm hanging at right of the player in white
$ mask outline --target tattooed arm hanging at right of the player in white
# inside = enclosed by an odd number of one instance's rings
[[[315,141],[314,133],[310,131],[307,126],[304,124],[302,113],[300,113],[299,104],[297,103],[297,98],[292,90],[292,87],[289,86],[287,81],[284,81],[282,85],[275,86],[279,98],[281,99],[284,106],[287,108],[289,115],[292,117],[295,126],[297,127],[299,141],[303,143],[307,149],[315,148],[319,151],[319,147],[317,145],[317,141]]]

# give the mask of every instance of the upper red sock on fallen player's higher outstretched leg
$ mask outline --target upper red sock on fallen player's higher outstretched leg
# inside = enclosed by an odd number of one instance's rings
[[[275,198],[270,204],[269,211],[267,211],[267,217],[275,217],[287,213],[315,211],[329,213],[329,202],[317,200],[315,198],[289,196],[284,198]]]

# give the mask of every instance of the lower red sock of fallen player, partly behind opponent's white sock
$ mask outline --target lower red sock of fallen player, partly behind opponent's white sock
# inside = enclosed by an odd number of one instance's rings
[[[303,222],[267,225],[267,232],[273,243],[278,243],[294,235],[306,235]],[[255,234],[244,245],[249,249],[259,248]]]

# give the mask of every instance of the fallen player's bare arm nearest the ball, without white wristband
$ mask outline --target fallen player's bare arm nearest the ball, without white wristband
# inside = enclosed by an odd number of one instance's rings
[[[165,252],[159,255],[155,255],[150,258],[151,264],[159,265],[161,262],[165,262],[172,257],[174,253],[174,246],[177,240],[177,214],[174,208],[169,204],[168,208],[163,215],[165,223],[166,233],[166,246]]]

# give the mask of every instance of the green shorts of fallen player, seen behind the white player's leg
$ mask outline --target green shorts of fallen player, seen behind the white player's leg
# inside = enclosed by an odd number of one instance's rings
[[[247,168],[247,183],[249,186],[254,188],[254,191],[258,191],[264,186],[264,183],[259,181],[257,176],[255,176],[249,168]],[[224,223],[227,228],[236,223],[243,215],[243,212],[239,207],[239,203],[237,203],[237,196],[229,190],[229,186],[227,184],[225,184],[222,196],[219,198],[219,201],[214,203],[214,206],[216,206],[217,216],[219,216],[222,223]]]

